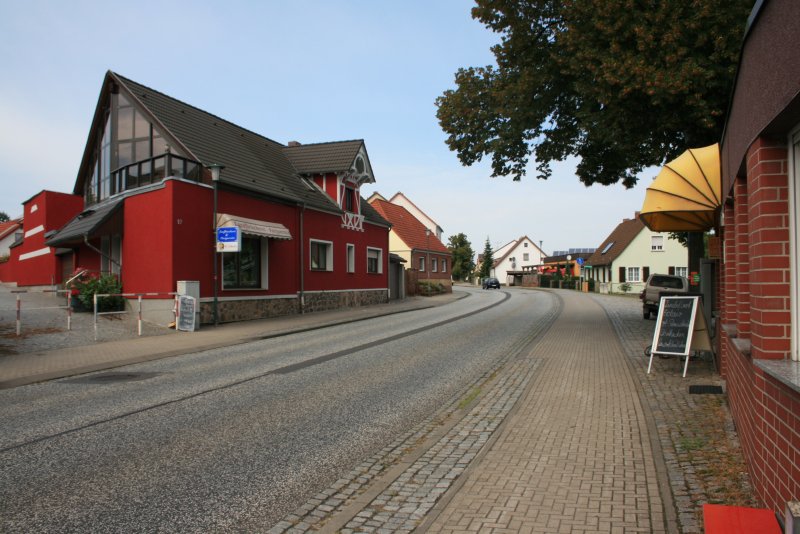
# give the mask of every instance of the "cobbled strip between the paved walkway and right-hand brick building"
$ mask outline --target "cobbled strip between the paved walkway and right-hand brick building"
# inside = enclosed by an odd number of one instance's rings
[[[667,468],[684,534],[703,532],[702,504],[759,506],[725,395],[690,394],[689,386],[725,388],[710,357],[691,359],[686,378],[679,358],[653,358],[647,374],[645,349],[655,321],[642,320],[638,299],[592,295],[603,305],[625,348]]]

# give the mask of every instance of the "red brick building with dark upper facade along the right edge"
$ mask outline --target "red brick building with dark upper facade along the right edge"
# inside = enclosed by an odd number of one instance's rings
[[[800,2],[757,2],[721,145],[721,372],[756,494],[781,515],[800,500],[798,50]]]

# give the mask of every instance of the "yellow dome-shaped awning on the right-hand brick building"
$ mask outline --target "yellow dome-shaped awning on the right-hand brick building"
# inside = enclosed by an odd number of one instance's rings
[[[639,218],[654,232],[702,232],[716,226],[722,205],[719,144],[690,148],[647,188]]]

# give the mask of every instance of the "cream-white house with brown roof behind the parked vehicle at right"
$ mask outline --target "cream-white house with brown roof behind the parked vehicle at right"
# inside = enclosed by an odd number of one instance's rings
[[[629,292],[638,293],[650,274],[687,276],[689,253],[668,233],[648,229],[637,213],[611,232],[586,265],[602,292],[622,292],[622,284],[628,284]]]

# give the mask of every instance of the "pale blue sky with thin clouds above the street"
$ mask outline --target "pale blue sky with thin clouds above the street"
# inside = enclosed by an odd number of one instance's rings
[[[639,184],[492,178],[445,144],[436,97],[500,37],[467,0],[0,0],[0,211],[71,192],[112,70],[281,143],[364,139],[376,183],[402,191],[476,253],[528,236],[545,252],[598,247],[644,201]]]

